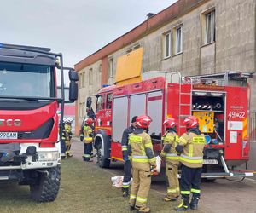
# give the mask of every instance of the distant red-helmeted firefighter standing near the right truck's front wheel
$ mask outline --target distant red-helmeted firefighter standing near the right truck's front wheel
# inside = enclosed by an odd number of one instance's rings
[[[92,152],[92,141],[93,141],[93,119],[92,118],[86,118],[85,124],[84,124],[84,161],[91,162],[91,152]]]

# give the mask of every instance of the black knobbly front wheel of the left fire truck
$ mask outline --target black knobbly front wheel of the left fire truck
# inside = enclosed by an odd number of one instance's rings
[[[48,169],[48,176],[39,173],[38,184],[30,185],[32,199],[38,202],[51,202],[57,197],[61,181],[61,167]]]

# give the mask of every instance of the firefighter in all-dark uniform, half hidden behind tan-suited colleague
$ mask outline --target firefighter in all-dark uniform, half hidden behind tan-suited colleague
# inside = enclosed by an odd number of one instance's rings
[[[122,136],[122,152],[123,152],[123,159],[125,160],[125,165],[124,165],[124,180],[123,180],[123,187],[122,187],[122,192],[123,192],[123,197],[127,197],[129,195],[129,186],[130,186],[130,181],[131,181],[131,161],[128,158],[128,152],[127,152],[127,147],[128,147],[128,138],[131,133],[136,128],[136,118],[137,116],[134,116],[131,119],[131,126],[126,128],[123,132]]]

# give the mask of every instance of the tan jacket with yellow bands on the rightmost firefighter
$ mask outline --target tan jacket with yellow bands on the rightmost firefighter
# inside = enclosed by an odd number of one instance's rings
[[[201,168],[203,163],[203,150],[206,145],[206,139],[203,134],[195,132],[186,132],[179,138],[178,145],[183,146],[183,152],[180,155],[182,164],[190,168]]]

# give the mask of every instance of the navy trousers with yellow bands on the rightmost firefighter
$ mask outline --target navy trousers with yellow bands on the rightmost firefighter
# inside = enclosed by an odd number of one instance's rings
[[[190,192],[194,198],[200,198],[202,168],[190,168],[182,165],[180,189],[183,199],[189,199]]]

